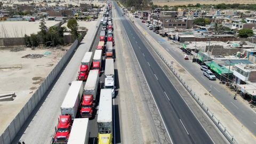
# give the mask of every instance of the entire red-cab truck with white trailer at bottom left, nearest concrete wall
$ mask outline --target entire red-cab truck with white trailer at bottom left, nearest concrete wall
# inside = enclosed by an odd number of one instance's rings
[[[82,95],[83,82],[73,81],[60,107],[60,118],[54,143],[66,143],[68,141],[71,125],[76,117]]]

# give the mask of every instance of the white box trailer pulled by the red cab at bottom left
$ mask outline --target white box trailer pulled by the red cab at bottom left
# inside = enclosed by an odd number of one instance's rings
[[[61,115],[71,115],[72,120],[74,120],[82,95],[83,82],[73,81],[60,107]]]

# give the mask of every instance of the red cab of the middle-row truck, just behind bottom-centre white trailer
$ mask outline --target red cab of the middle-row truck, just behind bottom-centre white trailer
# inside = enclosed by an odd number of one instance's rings
[[[81,117],[92,117],[93,108],[95,104],[93,101],[93,95],[84,95],[83,102],[80,110]]]

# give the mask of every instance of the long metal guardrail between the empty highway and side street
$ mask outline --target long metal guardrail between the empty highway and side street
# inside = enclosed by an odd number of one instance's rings
[[[129,20],[132,22],[132,24],[135,26],[135,23],[129,18]],[[137,27],[137,26],[135,26]],[[199,106],[205,111],[205,113],[212,119],[212,122],[218,127],[218,129],[222,132],[222,134],[227,138],[227,140],[232,143],[236,144],[238,143],[234,136],[227,130],[227,128],[221,124],[220,120],[214,116],[214,114],[209,110],[209,108],[204,105],[204,102],[196,95],[196,92],[192,90],[192,88],[185,82],[184,79],[178,74],[177,70],[173,68],[173,66],[163,57],[163,55],[156,49],[156,47],[151,43],[146,36],[144,36],[140,30],[138,30],[139,33],[146,39],[146,41],[149,43],[149,45],[154,49],[154,51],[158,54],[158,56],[164,61],[165,65],[170,68],[172,73],[179,79],[179,81],[182,83],[182,85],[187,89],[187,91],[190,93],[190,95],[196,100],[196,102],[199,104]]]

